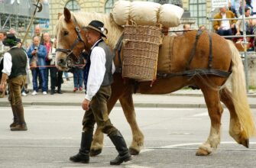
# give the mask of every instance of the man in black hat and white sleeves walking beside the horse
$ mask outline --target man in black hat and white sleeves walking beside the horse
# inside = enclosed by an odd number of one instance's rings
[[[92,45],[85,68],[86,98],[82,108],[86,110],[83,117],[83,133],[79,153],[70,157],[73,162],[89,163],[89,150],[92,143],[94,124],[104,134],[108,134],[118,156],[111,160],[111,165],[119,165],[131,160],[131,155],[122,134],[112,125],[107,108],[107,101],[111,96],[112,84],[112,53],[102,37],[107,29],[101,21],[91,21],[86,27],[87,42]]]

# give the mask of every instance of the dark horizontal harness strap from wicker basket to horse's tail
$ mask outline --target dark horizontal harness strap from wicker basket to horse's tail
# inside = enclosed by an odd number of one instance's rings
[[[204,75],[214,75],[214,76],[220,76],[223,78],[228,78],[228,76],[232,72],[226,72],[219,69],[192,69],[192,70],[185,70],[181,73],[157,73],[157,77],[160,78],[170,78],[174,76],[204,76]]]

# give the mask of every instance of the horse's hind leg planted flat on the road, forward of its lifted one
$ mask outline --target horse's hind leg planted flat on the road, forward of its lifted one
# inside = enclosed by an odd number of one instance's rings
[[[209,137],[205,143],[199,146],[196,156],[206,156],[212,153],[220,143],[220,128],[223,108],[219,101],[219,91],[209,87],[201,88],[211,119],[211,129]]]

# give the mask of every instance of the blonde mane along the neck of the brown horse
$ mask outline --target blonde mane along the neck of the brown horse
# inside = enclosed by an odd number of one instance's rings
[[[109,47],[111,49],[115,47],[115,44],[118,42],[119,37],[121,37],[122,35],[123,27],[115,24],[115,21],[111,18],[110,15],[84,11],[70,12],[72,17],[76,18],[76,22],[80,27],[86,27],[92,20],[102,21],[104,23],[104,26],[108,29],[108,34],[106,34],[107,44],[109,44]]]

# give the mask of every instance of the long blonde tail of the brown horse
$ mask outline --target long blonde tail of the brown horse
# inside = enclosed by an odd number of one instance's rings
[[[254,118],[248,104],[245,84],[245,71],[240,54],[231,40],[227,40],[232,52],[232,99],[235,113],[246,138],[255,135]]]

